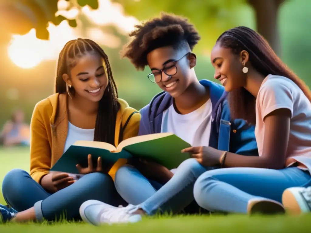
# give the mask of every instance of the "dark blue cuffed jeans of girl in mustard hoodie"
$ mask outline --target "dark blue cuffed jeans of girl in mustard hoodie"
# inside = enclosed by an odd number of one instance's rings
[[[21,169],[9,171],[2,182],[5,201],[18,212],[35,207],[38,221],[58,220],[66,214],[67,220],[80,219],[79,208],[89,199],[114,206],[125,205],[110,176],[90,173],[72,185],[51,194]]]

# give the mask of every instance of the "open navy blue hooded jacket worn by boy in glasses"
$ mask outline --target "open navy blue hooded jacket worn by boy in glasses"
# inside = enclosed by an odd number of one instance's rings
[[[255,139],[255,127],[244,120],[232,120],[227,93],[222,85],[209,80],[200,83],[210,90],[212,103],[212,123],[209,146],[219,150],[241,155],[258,155]],[[173,98],[167,92],[161,92],[140,110],[142,115],[138,135],[161,132],[163,112],[173,104]]]

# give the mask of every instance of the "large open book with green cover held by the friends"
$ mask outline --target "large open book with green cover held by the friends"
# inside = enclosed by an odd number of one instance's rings
[[[123,140],[118,147],[105,142],[76,141],[54,164],[51,171],[78,173],[76,164],[87,167],[87,156],[92,155],[93,165],[97,158],[102,163],[115,163],[120,158],[140,157],[153,160],[173,169],[189,158],[188,153],[181,150],[191,145],[171,133],[142,135]]]

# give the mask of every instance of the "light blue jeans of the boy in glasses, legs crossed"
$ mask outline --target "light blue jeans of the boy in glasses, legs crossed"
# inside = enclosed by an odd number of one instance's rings
[[[190,158],[179,165],[165,185],[154,187],[154,182],[147,180],[136,168],[126,165],[117,171],[115,185],[124,200],[139,205],[148,215],[158,210],[176,213],[193,202],[193,185],[208,169],[212,168],[205,168]]]

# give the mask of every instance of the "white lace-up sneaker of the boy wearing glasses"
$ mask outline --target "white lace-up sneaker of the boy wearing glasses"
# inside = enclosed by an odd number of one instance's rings
[[[142,216],[133,214],[138,208],[134,205],[114,207],[100,201],[88,200],[81,205],[79,212],[84,222],[99,226],[101,224],[138,222],[142,220]]]

